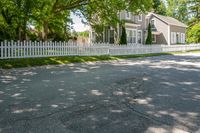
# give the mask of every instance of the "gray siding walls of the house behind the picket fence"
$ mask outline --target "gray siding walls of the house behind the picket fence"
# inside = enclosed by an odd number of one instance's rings
[[[154,33],[156,34],[156,42],[153,42],[154,44],[172,44],[172,39],[174,37],[171,37],[171,33],[177,33],[177,34],[181,34],[181,39],[184,40],[183,38],[185,37],[185,31],[186,28],[185,27],[179,27],[179,26],[173,26],[173,25],[168,25],[167,22],[165,22],[164,20],[162,20],[161,18],[159,18],[156,15],[146,15],[146,14],[142,14],[142,21],[138,20],[138,16],[134,13],[130,13],[130,18],[126,18],[126,13],[127,11],[121,11],[119,12],[118,16],[120,18],[120,20],[125,20],[125,28],[126,29],[131,29],[131,30],[136,30],[136,41],[138,41],[138,31],[142,32],[142,44],[145,44],[146,41],[146,37],[147,37],[147,30],[148,30],[148,24],[149,22],[153,19],[154,20],[154,25],[155,25],[155,29],[153,30],[153,32],[157,32]],[[109,43],[113,43],[113,41],[109,41],[109,36],[106,38],[105,36],[107,35],[107,31],[108,29],[105,27],[103,35],[95,37],[96,41],[99,42],[109,42]],[[121,33],[122,33],[122,25],[118,24],[118,26],[114,29],[114,42],[118,43],[121,37]],[[110,30],[108,30],[109,32]],[[183,37],[184,36],[184,37]],[[181,42],[182,42],[181,40]]]

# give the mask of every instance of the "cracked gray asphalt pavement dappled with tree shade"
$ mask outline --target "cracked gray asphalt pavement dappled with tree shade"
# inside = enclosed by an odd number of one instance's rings
[[[0,133],[200,133],[200,53],[0,71]]]

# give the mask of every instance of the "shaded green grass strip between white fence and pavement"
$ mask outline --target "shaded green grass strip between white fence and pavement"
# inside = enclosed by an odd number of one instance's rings
[[[192,52],[200,52],[200,51],[195,50]],[[138,58],[138,57],[150,57],[150,56],[159,56],[159,55],[172,55],[172,54],[179,54],[179,53],[183,53],[183,52],[143,54],[143,55],[124,55],[124,56],[67,56],[67,57],[7,59],[7,60],[0,60],[0,68],[11,69],[11,68],[20,68],[20,67],[42,66],[42,65],[68,64],[68,63],[75,63],[75,62],[104,61],[104,60],[117,60],[117,59]]]

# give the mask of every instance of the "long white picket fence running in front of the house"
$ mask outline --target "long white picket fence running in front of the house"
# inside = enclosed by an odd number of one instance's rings
[[[0,43],[0,59],[51,56],[130,55],[187,51],[200,49],[200,44],[190,45],[77,45],[67,42],[4,41]]]

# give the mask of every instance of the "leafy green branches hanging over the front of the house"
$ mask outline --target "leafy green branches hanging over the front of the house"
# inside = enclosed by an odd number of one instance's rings
[[[97,35],[101,36],[103,27],[112,26],[116,29],[120,23],[119,11],[139,13],[147,12],[151,7],[152,0],[93,0],[88,6],[81,8],[81,12]]]

